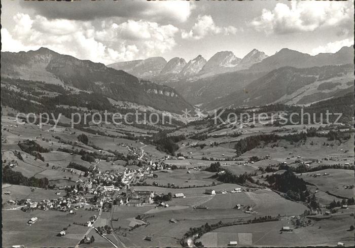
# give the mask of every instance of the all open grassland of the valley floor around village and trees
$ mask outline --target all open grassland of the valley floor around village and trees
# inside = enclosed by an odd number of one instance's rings
[[[79,155],[70,155],[69,153],[58,152],[58,148],[72,149],[72,145],[65,145],[59,142],[61,140],[71,141],[74,143],[74,149],[83,149],[87,152],[97,151],[92,146],[99,147],[103,154],[110,154],[107,150],[128,154],[126,145],[143,149],[152,156],[153,161],[158,161],[167,154],[158,151],[155,146],[144,145],[139,141],[125,138],[110,138],[99,134],[83,132],[78,129],[71,128],[51,128],[44,126],[42,129],[37,125],[21,124],[18,127],[14,125],[14,118],[2,116],[2,125],[6,126],[6,130],[2,133],[2,157],[6,159],[7,164],[16,161],[17,166],[14,171],[20,171],[23,175],[37,178],[46,177],[50,184],[57,186],[76,185],[75,181],[79,179],[77,174],[65,171],[65,167],[70,162],[75,162],[85,167],[90,167],[95,163],[89,163],[81,159]],[[63,120],[67,121],[67,120]],[[13,125],[13,126],[11,126]],[[309,127],[309,126],[308,126]],[[124,135],[124,132],[146,135],[148,129],[140,129],[131,126],[102,125],[91,127],[94,130],[103,131],[106,134]],[[291,132],[305,131],[303,126],[289,126],[290,130],[276,132],[276,134],[284,135]],[[354,151],[352,150],[353,135],[347,141],[328,141],[327,138],[310,137],[306,141],[298,143],[289,143],[286,140],[278,140],[272,144],[261,144],[260,146],[245,152],[236,158],[234,145],[238,140],[251,135],[260,133],[273,133],[278,127],[262,126],[257,123],[254,128],[243,127],[241,129],[226,126],[220,130],[217,127],[209,131],[209,135],[226,135],[221,137],[210,136],[205,140],[195,140],[187,138],[177,143],[180,148],[175,154],[181,152],[188,156],[184,160],[166,160],[167,164],[176,165],[178,167],[185,166],[186,169],[161,170],[154,171],[157,178],[146,179],[146,182],[153,184],[158,183],[159,186],[132,186],[136,190],[151,190],[156,194],[167,194],[171,192],[184,193],[185,198],[172,198],[166,202],[169,207],[157,207],[157,204],[145,204],[140,207],[133,206],[114,206],[112,218],[118,221],[112,221],[115,236],[122,241],[124,245],[118,243],[119,247],[180,247],[180,239],[192,227],[199,227],[205,223],[215,224],[219,221],[227,222],[244,222],[258,217],[264,216],[281,216],[281,220],[276,222],[256,223],[247,225],[238,225],[231,227],[223,227],[216,229],[210,233],[206,233],[201,237],[201,241],[206,247],[226,247],[230,241],[237,241],[241,246],[297,246],[297,245],[336,245],[337,242],[344,242],[346,245],[353,245],[354,232],[349,231],[349,226],[353,225],[354,207],[349,206],[348,209],[337,209],[337,213],[329,219],[311,220],[307,227],[295,228],[293,232],[280,232],[282,226],[293,226],[294,221],[290,216],[301,215],[308,209],[305,204],[286,200],[270,189],[258,189],[254,191],[242,193],[230,193],[235,188],[245,187],[237,184],[220,184],[220,182],[211,178],[215,172],[193,170],[195,167],[207,167],[215,161],[201,160],[202,157],[224,159],[237,159],[237,161],[221,161],[223,169],[228,169],[234,174],[253,173],[258,167],[266,167],[268,165],[277,165],[281,162],[287,162],[289,166],[297,166],[300,161],[309,162],[311,160],[322,159],[321,163],[313,162],[310,167],[326,164],[345,164],[352,163]],[[293,129],[293,130],[291,130]],[[193,134],[194,132],[207,131],[207,126],[187,126],[180,130],[175,130],[171,135],[175,134]],[[241,133],[238,137],[231,137],[233,131]],[[75,132],[75,134],[74,134]],[[150,130],[150,132],[152,132]],[[84,145],[78,141],[78,135],[85,133],[89,138],[89,145]],[[41,136],[39,136],[41,134]],[[49,153],[42,153],[45,161],[35,160],[33,156],[22,152],[17,145],[25,139],[33,139],[40,146],[52,149]],[[44,138],[44,140],[42,139]],[[213,143],[218,145],[211,146]],[[328,143],[329,146],[324,143]],[[122,146],[124,144],[124,146]],[[201,148],[191,147],[190,145],[206,144]],[[183,146],[184,145],[184,146]],[[106,150],[106,151],[104,151]],[[14,152],[20,151],[23,160],[19,160]],[[112,154],[110,154],[112,155]],[[271,159],[263,159],[266,155],[270,155]],[[262,160],[255,163],[247,163],[252,156],[257,156]],[[233,157],[233,159],[231,159]],[[328,158],[330,160],[325,160]],[[299,161],[298,161],[299,160]],[[297,162],[296,162],[297,161]],[[47,166],[47,163],[49,166]],[[242,165],[247,163],[247,165]],[[112,162],[99,161],[96,166],[101,171],[114,170],[122,172],[125,169],[137,169],[135,165],[125,166],[126,161],[118,160],[114,164]],[[55,168],[52,168],[54,166]],[[188,173],[189,171],[189,173]],[[276,173],[281,173],[278,171]],[[329,173],[324,175],[324,173]],[[260,173],[260,171],[259,171]],[[321,173],[321,176],[313,178],[313,174]],[[271,173],[268,173],[271,174]],[[264,174],[264,178],[265,178]],[[327,169],[317,172],[309,172],[299,174],[306,182],[313,184],[308,185],[311,192],[315,192],[316,200],[324,207],[333,199],[341,200],[340,197],[351,197],[354,195],[354,189],[345,189],[345,185],[353,185],[354,172],[342,169]],[[70,179],[69,179],[70,178]],[[264,182],[261,175],[254,177],[255,180]],[[215,186],[203,187],[205,185]],[[180,189],[169,188],[167,185],[175,185],[182,187]],[[195,187],[196,186],[196,187]],[[186,187],[186,188],[185,188]],[[190,187],[190,188],[189,188]],[[252,187],[249,185],[249,187]],[[88,227],[74,225],[73,222],[86,222],[88,219],[97,215],[95,211],[76,210],[76,215],[69,215],[60,211],[41,211],[23,212],[21,210],[11,209],[16,207],[6,203],[8,200],[32,199],[41,201],[43,199],[54,199],[65,195],[61,191],[60,195],[55,194],[57,191],[45,190],[40,188],[30,188],[17,185],[3,185],[4,191],[11,191],[10,195],[2,194],[3,197],[3,246],[8,247],[15,244],[22,244],[28,247],[50,247],[62,246],[73,247],[82,238]],[[227,194],[207,195],[206,189],[214,189],[216,191],[226,190]],[[331,196],[327,194],[337,195]],[[93,196],[93,195],[91,195]],[[257,213],[246,214],[243,209],[234,209],[236,204],[243,206],[251,206]],[[204,205],[208,209],[196,209],[195,206]],[[138,215],[145,216],[145,220],[137,220]],[[39,221],[33,225],[27,225],[27,221],[37,216]],[[110,225],[111,212],[103,211],[101,219],[95,224],[98,226]],[[177,223],[170,223],[169,220],[174,218]],[[133,228],[136,224],[141,225]],[[144,225],[142,225],[144,224]],[[69,226],[70,225],[70,226]],[[67,234],[64,237],[56,237],[63,228],[67,228]],[[89,233],[89,237],[94,236],[95,242],[85,246],[89,247],[111,247],[112,245],[103,237],[98,235],[95,230]],[[153,237],[152,241],[145,240],[149,235]],[[107,235],[116,243],[114,235]],[[84,246],[84,245],[83,245]]]

